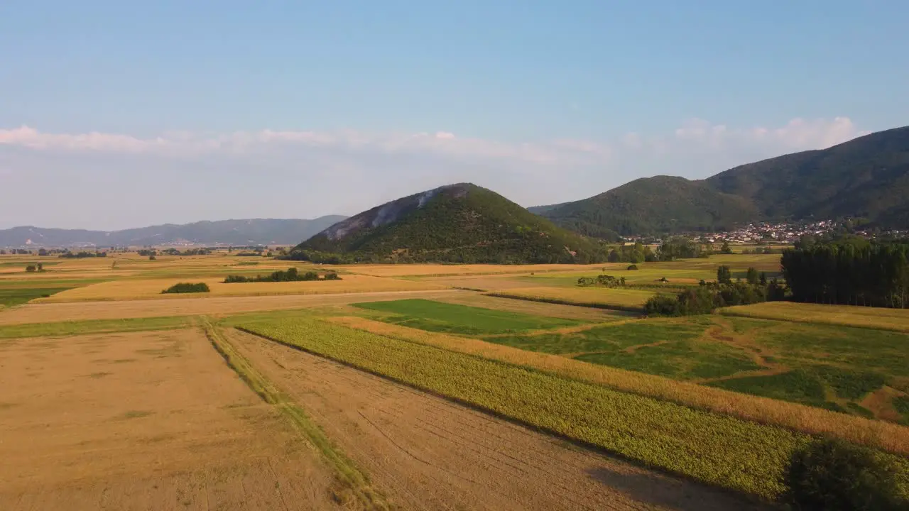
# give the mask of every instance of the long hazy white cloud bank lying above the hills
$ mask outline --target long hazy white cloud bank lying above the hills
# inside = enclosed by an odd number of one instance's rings
[[[444,130],[175,131],[138,137],[0,128],[0,219],[5,223],[0,228],[125,228],[226,217],[354,214],[462,181],[519,204],[553,204],[643,176],[703,178],[863,134],[848,117],[744,127],[692,119],[664,134],[533,142]],[[35,208],[34,197],[23,189],[41,190],[44,205]],[[65,206],[74,198],[82,204],[77,212]]]

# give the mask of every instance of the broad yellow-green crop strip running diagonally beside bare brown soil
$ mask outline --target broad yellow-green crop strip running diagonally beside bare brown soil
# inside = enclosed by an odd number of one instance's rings
[[[512,418],[646,466],[775,499],[810,436],[310,318],[246,332]]]

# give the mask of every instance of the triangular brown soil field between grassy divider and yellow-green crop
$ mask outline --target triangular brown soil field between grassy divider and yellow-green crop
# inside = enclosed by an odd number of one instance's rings
[[[225,330],[403,509],[749,509],[292,348]]]

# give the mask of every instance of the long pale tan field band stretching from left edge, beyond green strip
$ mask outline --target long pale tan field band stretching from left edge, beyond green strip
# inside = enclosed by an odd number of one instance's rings
[[[245,285],[237,284],[236,286]],[[469,291],[441,289],[435,291],[343,293],[338,295],[239,296],[221,298],[198,298],[194,296],[182,300],[121,300],[60,304],[26,304],[0,310],[0,325],[79,321],[85,319],[120,319],[125,317],[230,315],[254,311],[343,306],[356,302],[399,300],[402,298],[435,299],[437,297],[454,296],[458,294],[475,295]]]

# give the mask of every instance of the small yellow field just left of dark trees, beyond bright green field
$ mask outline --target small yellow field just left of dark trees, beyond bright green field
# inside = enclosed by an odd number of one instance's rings
[[[655,296],[654,291],[640,289],[615,289],[591,287],[524,287],[509,289],[491,296],[518,298],[564,305],[640,310],[644,303]]]

